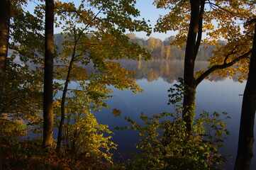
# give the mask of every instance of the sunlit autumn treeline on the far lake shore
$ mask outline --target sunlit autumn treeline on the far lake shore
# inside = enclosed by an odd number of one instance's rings
[[[174,40],[174,36],[166,38],[164,41],[159,38],[138,38],[135,33],[128,33],[130,41],[138,43],[141,47],[145,47],[151,55],[153,60],[184,60],[185,47],[178,47],[177,45],[170,45]],[[55,34],[55,45],[61,50],[64,35]],[[225,43],[225,42],[221,42]],[[196,60],[206,61],[212,56],[214,45],[201,45]]]

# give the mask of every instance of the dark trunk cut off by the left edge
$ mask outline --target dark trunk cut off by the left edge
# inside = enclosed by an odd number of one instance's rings
[[[0,87],[4,83],[9,45],[10,18],[10,0],[0,0]]]

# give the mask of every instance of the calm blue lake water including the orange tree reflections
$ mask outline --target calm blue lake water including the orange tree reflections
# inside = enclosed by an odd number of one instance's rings
[[[139,121],[140,113],[154,115],[163,111],[172,112],[172,108],[167,105],[167,90],[172,84],[177,82],[178,77],[183,75],[183,62],[163,62],[163,61],[121,61],[123,67],[137,72],[137,84],[144,89],[143,93],[133,94],[131,91],[119,91],[113,89],[114,98],[108,100],[111,109],[104,109],[95,113],[99,123],[108,124],[110,129],[117,126],[129,125],[124,117]],[[207,67],[206,62],[196,64],[196,70]],[[234,79],[214,79],[214,81],[204,80],[199,84],[196,92],[196,113],[202,110],[213,113],[217,111],[227,112],[231,117],[226,120],[228,124],[228,140],[225,148],[221,149],[222,154],[233,155],[229,162],[224,166],[226,169],[233,169],[235,155],[238,146],[238,131],[240,125],[240,112],[242,106],[243,91],[245,83],[239,83]],[[116,117],[111,114],[113,108],[121,111],[121,115]],[[118,150],[114,153],[123,153],[124,159],[128,159],[127,153],[135,152],[135,143],[138,143],[138,132],[133,130],[114,130],[113,142],[118,144]],[[256,169],[255,157],[252,159],[251,169]]]

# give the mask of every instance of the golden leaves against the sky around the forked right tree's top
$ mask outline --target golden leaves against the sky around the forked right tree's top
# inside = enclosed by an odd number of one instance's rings
[[[187,0],[181,1],[154,1],[157,8],[166,8],[169,13],[161,16],[157,21],[156,30],[166,32],[167,30],[178,30],[179,35],[187,35],[188,24],[190,20],[190,4]],[[218,29],[227,29],[228,27],[240,28],[241,24],[255,12],[255,6],[245,1],[206,1],[204,11],[203,30],[207,34],[218,34],[216,38],[222,38],[223,31]],[[214,24],[213,24],[214,23]],[[230,30],[229,33],[232,33]],[[214,37],[211,37],[215,39]]]

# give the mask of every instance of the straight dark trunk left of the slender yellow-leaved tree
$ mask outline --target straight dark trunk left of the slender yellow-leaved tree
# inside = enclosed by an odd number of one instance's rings
[[[43,147],[53,142],[53,55],[54,55],[54,1],[45,1],[45,74],[43,91]]]

